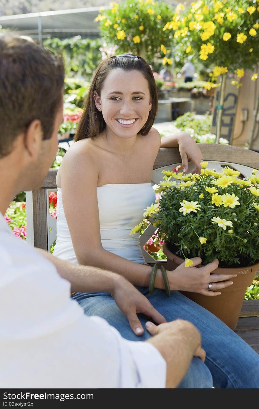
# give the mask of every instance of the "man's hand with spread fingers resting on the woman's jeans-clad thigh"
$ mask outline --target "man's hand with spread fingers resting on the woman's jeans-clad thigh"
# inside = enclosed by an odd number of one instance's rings
[[[129,281],[118,276],[115,287],[111,292],[119,309],[124,312],[135,335],[142,335],[144,329],[137,317],[142,313],[157,324],[166,322],[166,319],[151,305],[149,300],[141,294]]]

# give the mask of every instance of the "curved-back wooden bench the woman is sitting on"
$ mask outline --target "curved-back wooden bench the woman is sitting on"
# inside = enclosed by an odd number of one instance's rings
[[[253,168],[259,167],[259,153],[237,148],[236,146],[198,144],[208,167],[222,170],[222,166],[230,165],[243,175],[249,176]],[[178,148],[162,148],[153,167],[152,183],[158,184],[163,177],[163,169],[172,169],[181,164]],[[189,162],[189,171],[195,166]],[[41,189],[27,192],[27,237],[35,247],[50,251],[56,239],[56,220],[49,215],[49,191],[55,191],[57,169],[50,169]],[[51,231],[50,231],[51,229]],[[140,237],[140,244],[152,236],[155,227],[148,226]],[[147,263],[154,263],[153,258],[142,250]],[[166,263],[159,261],[158,263]],[[259,353],[259,300],[243,301],[241,314],[235,332]]]

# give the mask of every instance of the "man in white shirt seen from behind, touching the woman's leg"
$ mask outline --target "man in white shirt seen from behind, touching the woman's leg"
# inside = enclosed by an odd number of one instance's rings
[[[3,219],[18,192],[41,186],[54,160],[63,80],[63,63],[43,47],[0,37],[0,385],[177,387],[194,356],[205,360],[200,333],[191,323],[163,322],[117,274],[40,254],[13,236]],[[137,334],[143,328],[136,312],[163,323],[146,324],[155,335],[146,342],[126,341],[105,320],[84,315],[70,299],[74,290],[113,294]]]

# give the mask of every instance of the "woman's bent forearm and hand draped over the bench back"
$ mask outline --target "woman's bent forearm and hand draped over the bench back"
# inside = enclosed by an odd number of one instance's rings
[[[186,132],[178,132],[175,135],[161,138],[160,148],[173,148],[179,146],[179,152],[182,158],[182,171],[188,171],[188,160],[194,162],[195,173],[200,173],[200,162],[202,153],[198,148],[196,141]]]

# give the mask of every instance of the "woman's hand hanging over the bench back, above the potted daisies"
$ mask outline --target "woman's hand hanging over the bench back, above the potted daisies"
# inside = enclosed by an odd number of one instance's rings
[[[179,152],[182,158],[182,171],[188,171],[188,159],[191,160],[196,169],[193,173],[200,173],[201,166],[200,162],[202,161],[202,153],[200,148],[196,144],[195,139],[193,139],[188,133],[180,132],[177,134],[177,141],[179,146]]]

